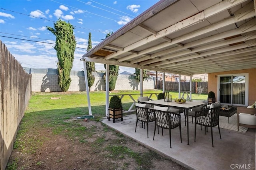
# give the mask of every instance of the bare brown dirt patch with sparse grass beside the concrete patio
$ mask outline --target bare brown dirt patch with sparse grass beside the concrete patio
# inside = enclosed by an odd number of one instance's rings
[[[9,163],[16,160],[18,170],[186,169],[101,122],[66,121],[79,122],[90,133],[81,141],[68,135],[55,135],[53,129],[31,129],[22,140],[34,137],[40,140],[40,145],[34,152],[28,152],[30,147],[24,143],[23,147],[13,150]]]

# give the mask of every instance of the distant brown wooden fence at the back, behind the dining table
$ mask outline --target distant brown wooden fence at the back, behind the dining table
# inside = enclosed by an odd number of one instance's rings
[[[198,88],[203,94],[208,94],[208,82],[192,82],[192,93],[198,93]],[[163,82],[158,81],[158,89],[163,89]],[[171,92],[179,91],[179,82],[165,82],[165,90]],[[190,82],[180,82],[180,91],[190,91]]]

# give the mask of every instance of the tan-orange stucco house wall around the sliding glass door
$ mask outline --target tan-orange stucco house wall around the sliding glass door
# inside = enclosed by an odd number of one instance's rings
[[[245,69],[245,70],[235,70],[235,71],[225,71],[225,72],[214,72],[208,74],[208,92],[213,91],[217,97],[217,86],[218,86],[218,75],[221,74],[249,74],[249,105],[255,103],[256,100],[256,68]]]

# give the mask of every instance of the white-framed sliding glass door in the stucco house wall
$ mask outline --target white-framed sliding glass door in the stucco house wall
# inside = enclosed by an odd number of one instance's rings
[[[248,105],[248,74],[219,75],[218,101],[222,104]]]

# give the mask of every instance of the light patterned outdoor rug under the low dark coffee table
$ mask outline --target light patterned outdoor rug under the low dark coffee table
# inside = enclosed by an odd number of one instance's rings
[[[237,130],[237,115],[236,114],[232,115],[229,118],[229,123],[228,123],[228,117],[219,116],[219,123],[220,123],[220,128],[228,129],[231,131],[246,133],[248,130],[248,127],[243,127],[243,126],[239,126],[239,131]]]

